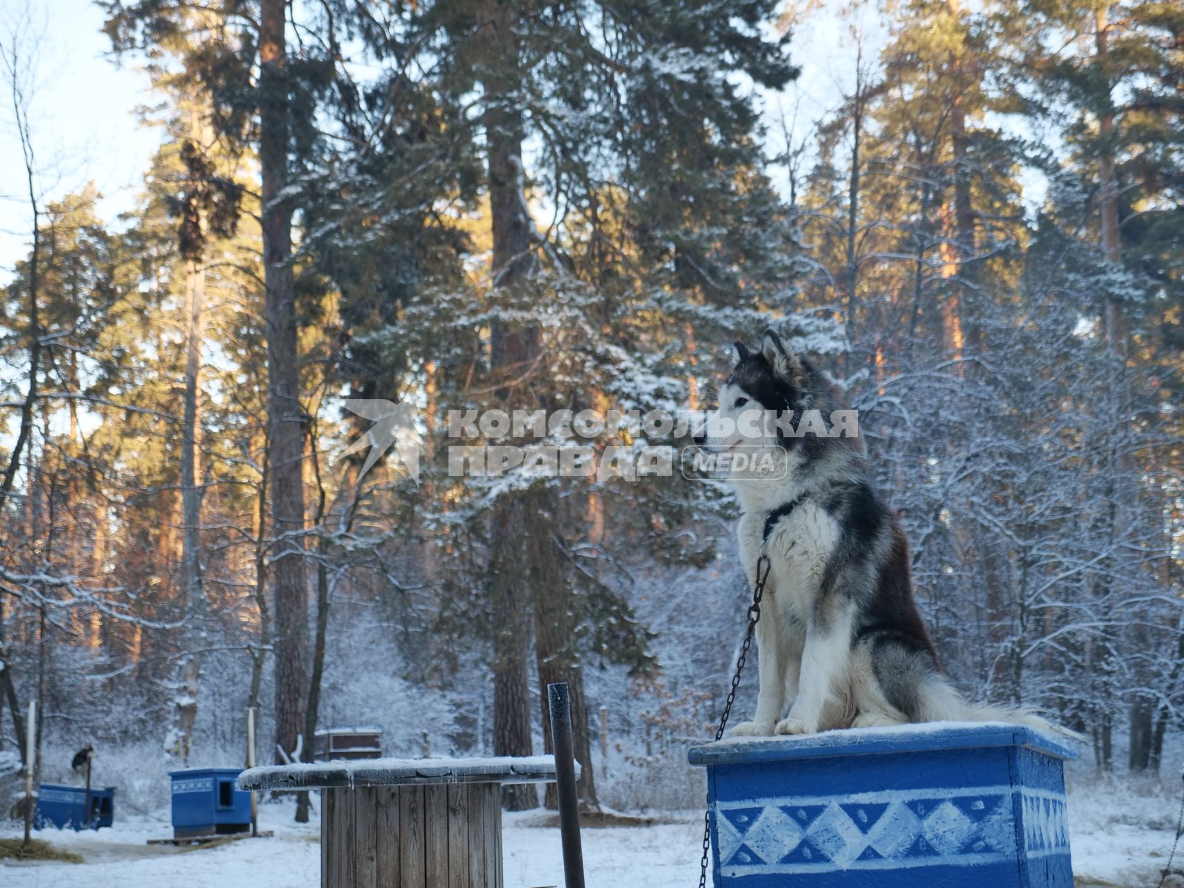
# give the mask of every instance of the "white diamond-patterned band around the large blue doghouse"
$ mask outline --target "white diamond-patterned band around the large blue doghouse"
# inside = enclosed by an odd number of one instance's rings
[[[1068,849],[1064,798],[1022,796],[1029,854]],[[895,790],[842,803],[774,798],[720,803],[723,875],[990,863],[1012,858],[1012,790]]]

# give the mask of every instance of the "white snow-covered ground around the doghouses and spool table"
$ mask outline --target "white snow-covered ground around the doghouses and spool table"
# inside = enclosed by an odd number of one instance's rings
[[[1175,787],[1171,787],[1175,789]],[[1162,791],[1132,791],[1119,783],[1079,783],[1069,793],[1074,871],[1077,886],[1145,888],[1159,881],[1171,850],[1178,798]],[[244,839],[219,848],[179,850],[148,845],[170,835],[168,812],[118,823],[114,829],[75,834],[44,831],[56,845],[77,851],[83,864],[0,862],[5,888],[315,888],[320,884],[318,826],[291,822],[289,804],[260,810],[272,838]],[[699,879],[701,821],[693,812],[652,826],[584,830],[588,888],[684,888]],[[536,813],[506,815],[507,888],[561,886],[559,831]],[[5,825],[0,835],[15,835]],[[1182,868],[1180,860],[1176,868]],[[1169,882],[1184,888],[1184,880]]]

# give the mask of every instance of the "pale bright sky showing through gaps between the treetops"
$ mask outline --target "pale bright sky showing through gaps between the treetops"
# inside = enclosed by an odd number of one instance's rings
[[[794,33],[790,56],[802,76],[781,96],[765,97],[771,150],[781,149],[781,112],[796,118],[796,141],[837,107],[851,79],[852,49],[847,26],[824,0]],[[60,199],[94,181],[103,194],[99,214],[114,220],[130,211],[143,173],[160,143],[157,128],[141,123],[137,108],[156,97],[139,59],[110,54],[102,32],[103,13],[92,0],[0,0],[0,44],[13,44],[14,22],[30,26],[17,39],[24,52],[36,49],[28,101],[43,200]],[[868,22],[871,31],[876,22]],[[0,96],[0,283],[28,253],[32,217],[24,160],[11,96]],[[781,170],[772,170],[774,179]],[[780,182],[784,185],[784,182]]]

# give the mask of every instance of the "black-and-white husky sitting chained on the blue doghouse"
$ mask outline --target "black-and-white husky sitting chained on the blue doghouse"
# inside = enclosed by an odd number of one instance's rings
[[[749,585],[761,553],[770,566],[757,714],[732,733],[941,720],[1047,728],[1022,709],[970,703],[942,676],[913,599],[908,541],[871,485],[857,427],[819,429],[841,406],[823,374],[768,330],[757,352],[735,343],[719,410],[694,437],[708,453],[745,446],[777,459],[774,471],[733,478]],[[773,414],[783,420],[767,422]]]

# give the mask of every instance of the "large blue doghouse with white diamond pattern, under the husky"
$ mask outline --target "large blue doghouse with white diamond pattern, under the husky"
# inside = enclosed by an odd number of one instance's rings
[[[1073,888],[1058,738],[909,725],[699,746],[718,888]]]

